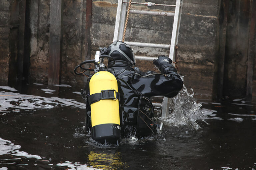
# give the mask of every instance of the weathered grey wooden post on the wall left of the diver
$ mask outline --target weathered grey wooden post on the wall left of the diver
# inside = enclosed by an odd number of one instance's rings
[[[51,0],[48,84],[61,83],[63,0]]]

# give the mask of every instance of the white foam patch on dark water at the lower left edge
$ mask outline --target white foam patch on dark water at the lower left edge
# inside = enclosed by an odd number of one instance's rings
[[[11,154],[11,155],[22,156],[26,158],[42,159],[38,155],[30,155],[27,152],[19,151],[20,148],[21,148],[20,145],[15,145],[10,140],[5,140],[0,137],[0,155]]]

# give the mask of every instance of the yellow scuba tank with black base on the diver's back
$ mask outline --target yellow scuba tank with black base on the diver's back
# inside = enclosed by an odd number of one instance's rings
[[[108,71],[95,73],[89,83],[92,137],[102,143],[118,143],[121,136],[117,80]]]

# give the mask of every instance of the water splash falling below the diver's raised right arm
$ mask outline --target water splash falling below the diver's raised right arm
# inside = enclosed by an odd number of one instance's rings
[[[183,80],[183,76],[181,76]],[[170,102],[170,108],[172,109],[169,116],[166,118],[160,118],[165,125],[168,126],[191,126],[194,129],[200,128],[196,123],[197,120],[205,122],[203,111],[200,109],[201,103],[197,103],[193,98],[194,92],[191,89],[191,93],[183,84],[182,90],[177,96],[172,98]],[[205,122],[206,123],[206,122]],[[207,124],[207,123],[206,123]]]

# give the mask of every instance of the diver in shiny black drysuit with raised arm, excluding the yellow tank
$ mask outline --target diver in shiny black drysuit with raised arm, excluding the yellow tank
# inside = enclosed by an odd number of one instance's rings
[[[121,137],[136,135],[151,135],[157,124],[153,116],[152,96],[172,98],[183,87],[183,82],[177,73],[172,60],[167,56],[159,56],[153,63],[161,73],[154,71],[141,72],[135,65],[133,49],[124,42],[115,41],[108,47],[100,48],[101,55],[111,56],[106,71],[112,73],[118,85],[119,116]],[[89,82],[82,91],[82,98],[86,101],[86,128],[90,131],[91,107],[89,101]],[[117,93],[116,93],[117,94]],[[105,141],[106,142],[106,141]]]

